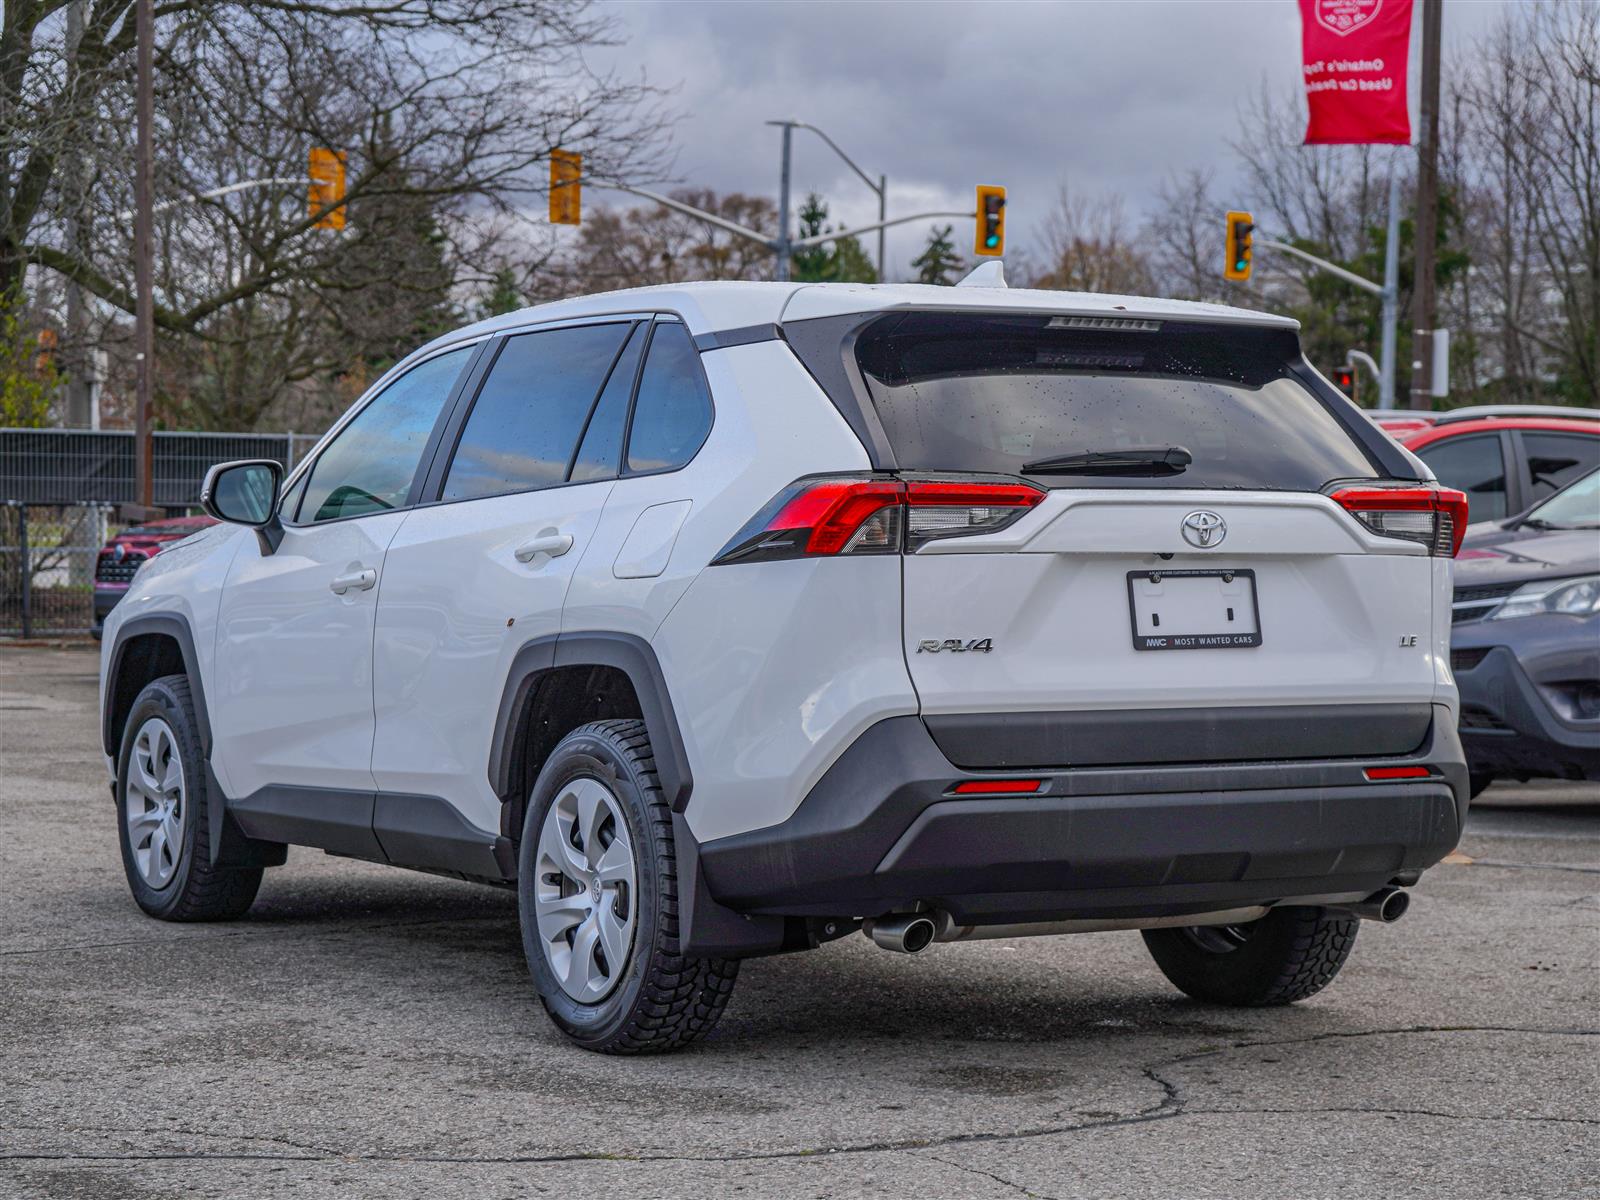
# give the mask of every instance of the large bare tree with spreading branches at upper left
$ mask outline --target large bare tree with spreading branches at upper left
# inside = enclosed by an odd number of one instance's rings
[[[93,0],[75,46],[66,3],[0,18],[0,288],[45,269],[128,312],[133,3]],[[158,0],[157,34],[157,323],[200,424],[250,427],[285,386],[427,333],[552,147],[664,165],[654,90],[586,64],[614,37],[587,0]],[[347,154],[342,230],[293,182],[312,146]],[[243,179],[290,182],[195,200]]]

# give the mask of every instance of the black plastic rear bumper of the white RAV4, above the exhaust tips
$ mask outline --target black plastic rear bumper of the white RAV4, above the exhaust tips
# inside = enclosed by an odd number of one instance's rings
[[[1365,896],[1459,838],[1466,760],[1450,710],[1434,715],[1403,755],[1027,770],[1037,794],[994,797],[952,795],[994,773],[952,765],[920,718],[894,717],[782,824],[699,846],[699,869],[736,912],[870,917],[923,902],[963,925]],[[1411,763],[1432,774],[1363,774]]]

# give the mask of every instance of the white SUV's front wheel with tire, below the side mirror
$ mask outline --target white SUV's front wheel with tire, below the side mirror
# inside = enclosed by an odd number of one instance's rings
[[[134,699],[117,755],[115,797],[122,866],[141,909],[168,922],[232,920],[250,910],[261,867],[211,862],[205,754],[184,675],[165,675]],[[154,818],[163,805],[170,816]]]

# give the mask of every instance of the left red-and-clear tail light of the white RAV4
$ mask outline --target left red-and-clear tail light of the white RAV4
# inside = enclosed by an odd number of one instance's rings
[[[773,496],[712,563],[910,554],[939,538],[1003,530],[1043,498],[1021,480],[818,475]]]

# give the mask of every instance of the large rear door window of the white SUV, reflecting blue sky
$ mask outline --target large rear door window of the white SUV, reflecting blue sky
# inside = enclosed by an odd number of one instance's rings
[[[629,328],[574,325],[507,338],[461,430],[443,499],[565,483]]]

